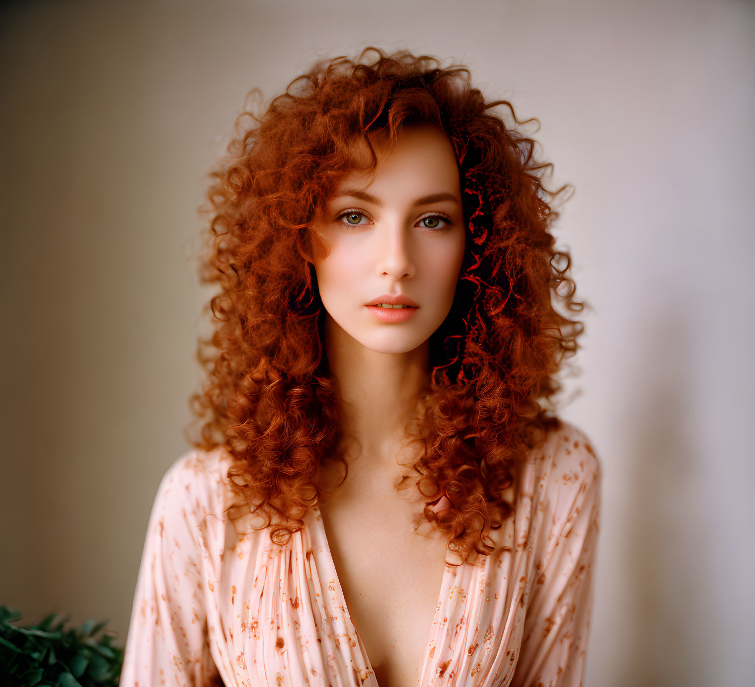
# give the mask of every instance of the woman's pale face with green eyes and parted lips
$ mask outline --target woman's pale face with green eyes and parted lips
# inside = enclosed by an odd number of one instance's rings
[[[454,299],[465,235],[458,167],[431,126],[402,129],[375,152],[374,175],[350,173],[328,199],[315,227],[325,252],[313,263],[337,326],[373,351],[405,353],[430,338]],[[396,299],[411,307],[379,305]]]

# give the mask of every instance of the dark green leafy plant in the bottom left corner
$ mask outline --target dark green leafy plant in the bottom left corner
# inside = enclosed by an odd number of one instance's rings
[[[0,606],[0,684],[19,687],[118,687],[123,649],[110,645],[103,633],[107,620],[87,620],[81,628],[64,630],[68,618],[53,627],[55,614],[42,623],[16,627],[20,611]]]

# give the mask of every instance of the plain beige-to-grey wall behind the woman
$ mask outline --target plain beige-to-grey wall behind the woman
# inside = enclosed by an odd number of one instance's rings
[[[201,380],[205,175],[251,88],[408,48],[538,117],[575,187],[556,237],[591,310],[562,416],[604,472],[587,687],[750,682],[755,5],[5,2],[0,22],[0,604],[125,642]]]

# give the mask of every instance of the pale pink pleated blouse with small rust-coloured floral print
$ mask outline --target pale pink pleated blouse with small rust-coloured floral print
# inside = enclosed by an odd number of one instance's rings
[[[319,510],[282,546],[249,515],[234,527],[230,460],[192,450],[162,479],[120,685],[377,687]],[[601,481],[587,438],[565,422],[529,452],[495,551],[445,566],[420,687],[582,684]]]

